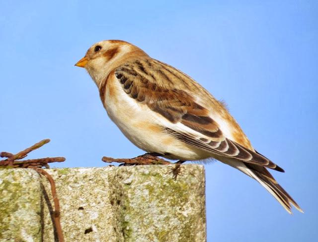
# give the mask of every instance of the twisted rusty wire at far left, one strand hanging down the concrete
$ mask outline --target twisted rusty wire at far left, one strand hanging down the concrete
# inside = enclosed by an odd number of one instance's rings
[[[47,157],[47,158],[40,158],[40,159],[30,159],[30,160],[23,160],[28,153],[33,150],[40,148],[41,146],[50,142],[50,139],[43,139],[40,142],[32,145],[25,150],[22,150],[18,153],[11,154],[9,152],[1,152],[0,157],[5,157],[7,159],[0,160],[0,167],[12,167],[12,168],[30,168],[35,170],[38,174],[43,175],[46,179],[50,182],[51,185],[51,192],[54,202],[54,211],[53,211],[53,218],[57,232],[57,239],[59,242],[64,242],[63,231],[61,227],[60,221],[60,201],[58,199],[58,195],[56,192],[55,182],[50,174],[48,174],[42,167],[49,168],[48,163],[52,162],[63,162],[65,161],[64,157]]]

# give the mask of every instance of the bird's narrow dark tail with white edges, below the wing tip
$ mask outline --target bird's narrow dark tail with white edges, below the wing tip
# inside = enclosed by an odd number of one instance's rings
[[[276,200],[286,209],[286,211],[292,214],[292,206],[300,211],[304,212],[297,202],[281,187],[278,182],[273,178],[273,176],[267,171],[265,167],[243,163],[238,164],[238,162],[226,162],[226,164],[239,169],[241,172],[250,176],[265,187]]]

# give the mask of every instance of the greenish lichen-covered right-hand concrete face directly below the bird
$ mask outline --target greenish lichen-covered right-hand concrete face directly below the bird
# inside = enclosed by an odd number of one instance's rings
[[[206,241],[204,169],[198,165],[182,168],[176,180],[171,166],[117,170],[127,194],[122,210],[125,241]]]

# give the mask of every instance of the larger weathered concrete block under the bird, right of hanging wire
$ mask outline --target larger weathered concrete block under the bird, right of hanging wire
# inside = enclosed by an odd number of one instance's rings
[[[47,170],[56,181],[65,241],[205,242],[204,168],[182,165],[182,176],[174,180],[172,167]],[[54,242],[45,202],[43,207],[43,238]]]

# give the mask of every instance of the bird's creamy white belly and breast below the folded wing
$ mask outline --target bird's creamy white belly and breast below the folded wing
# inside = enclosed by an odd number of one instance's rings
[[[121,88],[121,87],[119,87]],[[181,160],[206,159],[206,154],[166,133],[147,105],[139,104],[116,85],[108,85],[105,108],[110,119],[137,147],[146,152],[171,154]],[[163,118],[163,117],[162,117]]]

